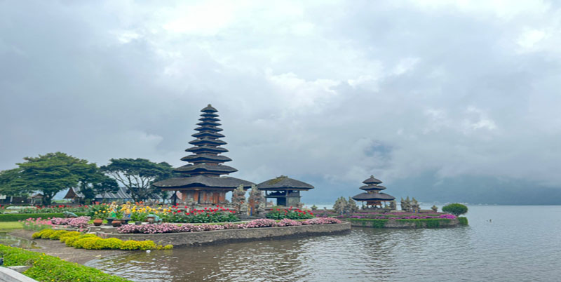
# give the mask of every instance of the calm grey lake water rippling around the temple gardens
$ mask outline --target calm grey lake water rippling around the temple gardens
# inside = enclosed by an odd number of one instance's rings
[[[128,253],[87,265],[133,281],[561,281],[561,206],[469,210],[468,227],[353,227],[338,236]]]

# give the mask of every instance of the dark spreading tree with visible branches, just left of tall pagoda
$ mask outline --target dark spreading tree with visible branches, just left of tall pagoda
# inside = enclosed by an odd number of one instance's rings
[[[147,159],[111,159],[101,170],[121,183],[135,201],[150,199],[158,193],[152,183],[171,177],[169,163],[154,163]]]

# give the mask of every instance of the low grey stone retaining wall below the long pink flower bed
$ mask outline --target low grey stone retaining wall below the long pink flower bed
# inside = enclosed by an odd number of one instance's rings
[[[173,246],[200,245],[205,243],[252,241],[290,236],[317,236],[337,234],[351,231],[348,222],[340,224],[315,224],[290,227],[263,227],[248,229],[226,229],[199,232],[180,232],[165,234],[111,234],[96,232],[102,238],[118,238],[121,240],[151,240],[161,245]]]

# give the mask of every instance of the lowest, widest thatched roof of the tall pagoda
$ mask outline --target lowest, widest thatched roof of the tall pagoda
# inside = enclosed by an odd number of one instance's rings
[[[177,188],[210,188],[210,189],[229,189],[243,185],[250,188],[253,182],[241,180],[234,177],[210,177],[205,175],[195,175],[191,177],[170,178],[154,183],[154,186],[161,189],[177,189]]]

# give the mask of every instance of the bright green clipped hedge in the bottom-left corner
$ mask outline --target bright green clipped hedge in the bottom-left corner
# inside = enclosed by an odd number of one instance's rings
[[[23,274],[37,281],[59,282],[121,282],[128,281],[119,276],[105,274],[93,267],[86,267],[73,262],[65,262],[58,257],[31,252],[20,248],[0,245],[0,255],[4,257],[4,266],[28,265]]]

